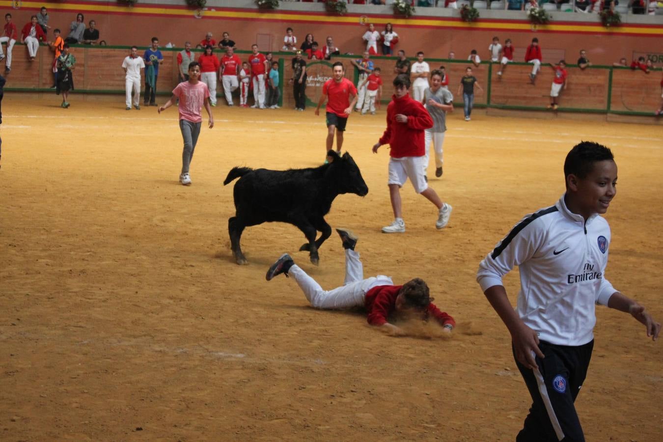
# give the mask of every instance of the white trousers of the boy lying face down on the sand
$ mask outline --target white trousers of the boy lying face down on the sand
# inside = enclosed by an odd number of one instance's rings
[[[364,305],[366,292],[377,286],[392,286],[389,276],[378,275],[363,279],[364,269],[355,250],[345,250],[345,282],[332,290],[322,290],[320,284],[308,276],[297,264],[288,270],[304,292],[312,307],[319,309],[343,309]]]

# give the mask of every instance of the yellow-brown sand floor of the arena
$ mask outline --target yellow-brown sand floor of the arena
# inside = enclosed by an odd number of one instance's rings
[[[3,102],[0,439],[512,441],[530,398],[475,272],[522,215],[564,192],[579,140],[607,144],[619,166],[607,277],[663,319],[658,127],[481,113],[465,123],[457,109],[444,176],[430,180],[453,205],[450,225],[436,231],[432,205],[406,184],[407,233],[387,236],[389,156],[371,153],[385,109],[353,114],[344,150],[369,194],[339,196],[328,221],[359,235],[367,276],[420,276],[465,324],[452,339],[414,339],[371,329],[361,311],[312,309],[293,280],[265,282],[288,251],[325,288],[341,284],[335,234],[315,267],[295,227],[249,227],[249,265],[233,262],[223,178],[233,166],[317,166],[324,116],[219,105],[185,188],[176,109],[83,100]],[[515,302],[516,271],[505,284]],[[624,313],[597,317],[576,403],[587,440],[660,441],[663,343]]]

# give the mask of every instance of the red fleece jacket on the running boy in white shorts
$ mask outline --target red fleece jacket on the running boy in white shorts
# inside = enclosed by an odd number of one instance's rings
[[[397,114],[407,115],[407,123],[398,123]],[[380,138],[380,144],[391,146],[389,156],[424,156],[424,129],[433,127],[433,119],[422,103],[405,95],[402,98],[392,96],[387,106],[387,129]]]

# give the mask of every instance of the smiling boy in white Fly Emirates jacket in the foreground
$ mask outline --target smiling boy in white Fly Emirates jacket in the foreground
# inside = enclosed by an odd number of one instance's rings
[[[584,441],[573,402],[594,344],[595,304],[631,313],[656,340],[660,323],[605,279],[610,227],[605,213],[617,189],[609,148],[581,142],[564,162],[566,193],[526,215],[479,264],[477,282],[511,333],[516,365],[532,407],[516,441]],[[516,310],[502,277],[520,269]]]

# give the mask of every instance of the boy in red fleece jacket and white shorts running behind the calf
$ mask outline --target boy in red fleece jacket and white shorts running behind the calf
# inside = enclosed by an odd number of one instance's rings
[[[373,153],[389,143],[389,197],[394,211],[394,222],[382,228],[383,233],[404,233],[400,188],[410,178],[416,193],[421,193],[438,208],[435,227],[442,229],[449,223],[452,206],[443,203],[438,194],[428,187],[424,170],[426,149],[424,130],[433,127],[433,119],[422,103],[410,98],[410,78],[400,74],[394,78],[394,95],[387,106],[387,129],[373,146]]]

